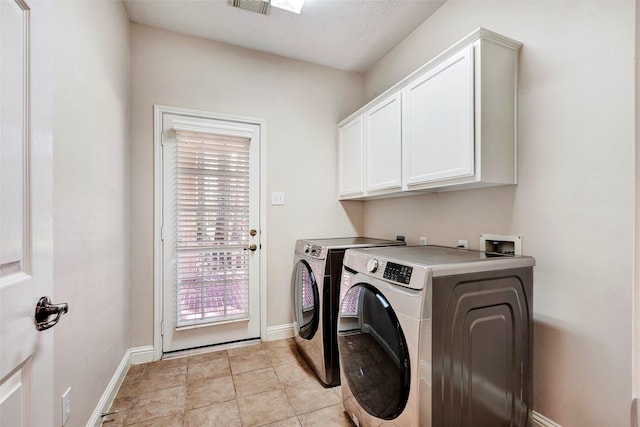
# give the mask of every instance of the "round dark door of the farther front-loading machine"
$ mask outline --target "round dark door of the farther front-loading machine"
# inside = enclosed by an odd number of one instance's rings
[[[294,311],[299,335],[310,340],[318,329],[318,284],[311,266],[304,260],[296,264],[294,276]]]

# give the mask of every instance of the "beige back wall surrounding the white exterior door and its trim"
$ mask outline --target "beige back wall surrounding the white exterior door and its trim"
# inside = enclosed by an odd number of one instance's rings
[[[267,122],[267,324],[291,322],[295,240],[358,235],[359,202],[336,197],[336,123],[362,102],[362,77],[131,26],[131,346],[153,344],[153,105]],[[266,245],[264,244],[266,243]]]

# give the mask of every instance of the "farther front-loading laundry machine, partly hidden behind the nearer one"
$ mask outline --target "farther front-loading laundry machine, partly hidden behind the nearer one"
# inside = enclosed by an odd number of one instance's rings
[[[344,252],[349,248],[401,245],[405,242],[370,237],[296,242],[292,298],[295,341],[323,384],[340,384],[336,333]]]

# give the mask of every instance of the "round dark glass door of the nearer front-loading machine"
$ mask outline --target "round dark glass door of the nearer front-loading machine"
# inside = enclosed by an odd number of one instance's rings
[[[342,298],[338,320],[340,363],[349,389],[374,417],[392,420],[407,404],[407,342],[391,304],[375,287],[358,283]]]

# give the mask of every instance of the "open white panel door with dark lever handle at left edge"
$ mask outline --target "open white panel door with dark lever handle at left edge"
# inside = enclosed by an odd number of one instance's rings
[[[53,426],[49,5],[0,0],[0,425]],[[51,296],[51,295],[50,295]],[[56,423],[58,424],[58,423]]]

